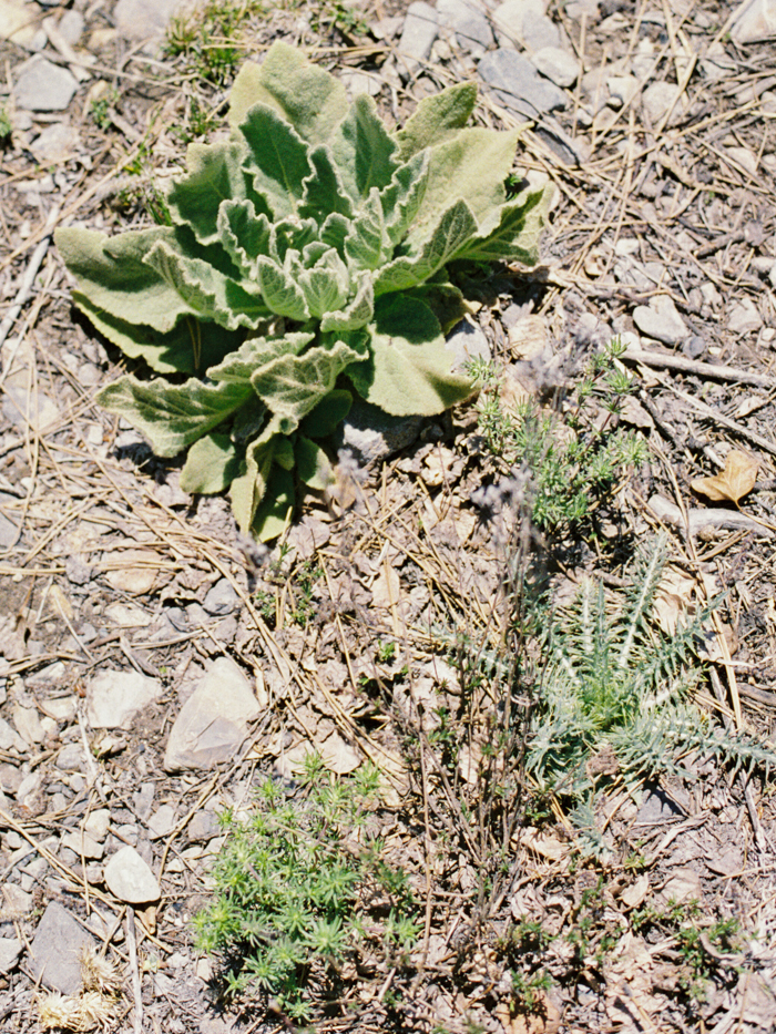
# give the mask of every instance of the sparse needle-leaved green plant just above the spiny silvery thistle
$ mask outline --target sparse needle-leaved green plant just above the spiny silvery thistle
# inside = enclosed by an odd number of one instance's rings
[[[609,418],[600,424],[592,419],[592,400],[613,416],[632,390],[627,375],[614,367],[621,351],[613,341],[591,360],[571,389],[562,417],[534,401],[504,406],[494,364],[474,360],[471,365],[472,376],[482,386],[480,432],[506,470],[529,474],[531,518],[543,531],[584,521],[616,479],[646,459],[641,437],[615,428]]]

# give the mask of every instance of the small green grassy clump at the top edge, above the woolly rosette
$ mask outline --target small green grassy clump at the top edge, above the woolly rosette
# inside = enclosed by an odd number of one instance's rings
[[[261,0],[241,3],[207,2],[173,18],[164,44],[169,58],[184,59],[190,74],[198,75],[215,85],[224,85],[245,57],[243,40],[252,16],[265,10]]]

